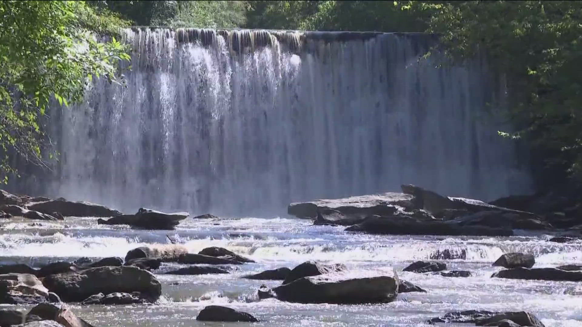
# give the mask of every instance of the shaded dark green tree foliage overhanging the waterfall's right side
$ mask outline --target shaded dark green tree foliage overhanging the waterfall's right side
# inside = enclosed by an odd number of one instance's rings
[[[582,177],[582,2],[403,2],[430,12],[432,33],[455,60],[484,52],[506,76],[509,114],[548,167]],[[502,133],[503,134],[503,133]]]

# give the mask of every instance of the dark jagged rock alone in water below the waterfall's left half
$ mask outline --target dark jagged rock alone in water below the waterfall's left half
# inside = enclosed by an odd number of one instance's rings
[[[161,211],[140,208],[135,215],[118,215],[105,221],[99,219],[97,223],[102,225],[130,225],[143,229],[174,229],[180,221],[188,218],[187,212],[174,212],[165,214]]]

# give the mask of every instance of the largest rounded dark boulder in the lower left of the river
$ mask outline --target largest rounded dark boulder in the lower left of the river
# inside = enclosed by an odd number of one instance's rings
[[[94,294],[140,292],[142,298],[154,302],[162,287],[152,273],[134,266],[102,266],[76,273],[60,273],[45,277],[44,286],[63,301],[79,302]]]

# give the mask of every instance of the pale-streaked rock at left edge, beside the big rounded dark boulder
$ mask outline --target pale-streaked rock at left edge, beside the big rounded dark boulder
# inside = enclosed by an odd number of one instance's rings
[[[47,301],[48,291],[36,276],[29,273],[0,275],[0,303],[42,303]]]

